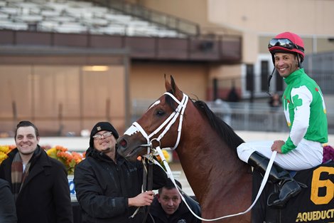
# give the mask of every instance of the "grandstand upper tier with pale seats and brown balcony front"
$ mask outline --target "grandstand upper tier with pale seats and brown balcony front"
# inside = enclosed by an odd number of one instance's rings
[[[2,0],[0,18],[1,45],[128,48],[131,59],[241,60],[240,36],[201,36],[198,24],[124,1]],[[57,33],[80,36],[60,43],[64,35]]]

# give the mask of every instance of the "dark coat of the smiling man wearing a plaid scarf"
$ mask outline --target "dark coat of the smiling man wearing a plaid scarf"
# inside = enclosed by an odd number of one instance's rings
[[[17,148],[0,166],[0,178],[10,185],[11,163],[16,152]],[[16,199],[18,223],[72,223],[70,187],[64,165],[39,146],[31,159],[28,177]]]

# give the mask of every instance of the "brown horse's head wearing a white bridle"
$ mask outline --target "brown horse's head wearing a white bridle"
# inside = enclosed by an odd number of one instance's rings
[[[180,137],[179,120],[188,102],[188,96],[178,89],[172,76],[171,83],[165,76],[165,85],[166,93],[117,140],[119,155],[127,160],[135,160],[145,155],[150,147],[177,146]]]

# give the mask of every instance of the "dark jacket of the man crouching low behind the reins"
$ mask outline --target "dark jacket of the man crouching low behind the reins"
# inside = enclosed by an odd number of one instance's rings
[[[197,202],[190,199],[190,197],[185,197],[189,207],[200,217],[200,206]],[[161,207],[158,202],[158,198],[154,197],[153,202],[150,207],[150,214],[154,219],[155,223],[200,223],[201,220],[195,217],[185,203],[182,201],[178,206],[176,212],[167,216],[166,212]],[[147,217],[146,223],[153,223],[151,216]]]

